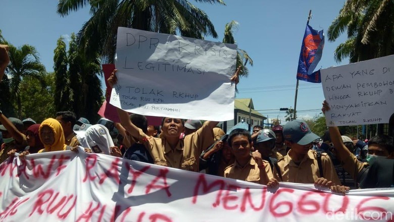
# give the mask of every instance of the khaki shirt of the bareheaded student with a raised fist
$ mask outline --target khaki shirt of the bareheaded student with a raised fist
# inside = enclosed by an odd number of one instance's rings
[[[233,164],[224,170],[224,177],[266,185],[273,178],[273,175],[269,162],[266,160],[263,160],[263,162],[264,169],[260,169],[252,157],[244,167],[241,167],[235,160]]]

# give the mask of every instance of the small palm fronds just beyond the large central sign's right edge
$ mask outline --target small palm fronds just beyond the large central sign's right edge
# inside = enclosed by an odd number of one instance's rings
[[[231,21],[226,24],[224,28],[223,43],[230,43],[230,44],[236,43],[234,39],[234,30],[236,30],[237,28],[238,28],[238,23],[236,21]],[[248,52],[240,48],[237,48],[236,67],[241,66],[241,74],[240,74],[241,76],[245,76],[245,77],[248,76],[249,70],[246,67],[248,62],[249,65],[253,66],[253,60],[249,56]]]

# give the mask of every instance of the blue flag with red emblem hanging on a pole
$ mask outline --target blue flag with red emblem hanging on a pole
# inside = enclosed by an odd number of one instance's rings
[[[303,44],[301,46],[300,61],[298,63],[297,79],[307,82],[320,83],[320,70],[313,72],[321,59],[324,47],[323,30],[314,30],[307,24]]]

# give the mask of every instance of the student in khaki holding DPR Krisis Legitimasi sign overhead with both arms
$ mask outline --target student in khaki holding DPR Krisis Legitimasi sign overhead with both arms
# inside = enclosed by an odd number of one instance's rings
[[[108,83],[113,87],[117,83],[114,70]],[[231,77],[231,81],[238,82],[240,67]],[[214,143],[213,128],[219,122],[207,121],[196,132],[180,139],[184,132],[184,121],[177,118],[163,118],[160,138],[149,137],[141,129],[131,123],[129,115],[124,110],[117,108],[122,126],[127,132],[151,152],[154,163],[166,167],[199,172],[200,155]]]

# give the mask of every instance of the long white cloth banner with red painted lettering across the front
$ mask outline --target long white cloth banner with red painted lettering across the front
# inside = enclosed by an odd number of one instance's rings
[[[394,188],[267,190],[82,148],[9,158],[0,176],[0,221],[393,221]]]

